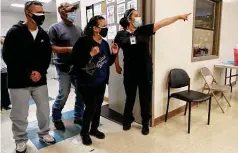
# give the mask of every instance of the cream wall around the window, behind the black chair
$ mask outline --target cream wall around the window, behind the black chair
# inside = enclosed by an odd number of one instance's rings
[[[165,114],[167,103],[167,75],[173,68],[185,69],[191,77],[191,88],[200,90],[203,80],[199,68],[207,66],[213,71],[213,65],[219,60],[231,60],[233,48],[238,43],[238,3],[231,4],[224,0],[220,59],[191,62],[193,17],[188,22],[177,22],[161,29],[155,35],[155,70],[154,70],[154,118]],[[183,13],[193,13],[193,0],[156,0],[155,20]],[[216,71],[217,72],[217,71]],[[217,72],[215,76],[219,77]],[[170,111],[185,103],[171,100]]]

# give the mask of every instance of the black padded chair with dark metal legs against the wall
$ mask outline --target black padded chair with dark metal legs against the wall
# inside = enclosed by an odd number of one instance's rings
[[[171,88],[182,88],[188,86],[188,90],[176,92],[173,94],[170,94]],[[170,98],[176,98],[180,99],[186,102],[186,108],[189,105],[189,116],[188,116],[188,133],[190,133],[190,120],[191,120],[191,105],[192,102],[204,102],[209,100],[209,108],[208,108],[208,125],[210,124],[210,111],[211,111],[211,95],[204,94],[202,92],[197,92],[190,90],[190,78],[186,71],[182,69],[172,69],[169,73],[168,78],[168,103],[167,103],[167,110],[166,110],[166,116],[165,116],[165,122],[168,118],[168,111],[169,111],[169,103]]]

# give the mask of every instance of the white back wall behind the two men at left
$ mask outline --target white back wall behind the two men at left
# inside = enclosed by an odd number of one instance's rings
[[[20,20],[25,20],[24,13],[16,13],[16,12],[1,12],[1,35],[5,36],[7,31]],[[46,15],[46,19],[42,28],[44,30],[48,30],[51,24],[56,23],[57,18],[56,15]]]

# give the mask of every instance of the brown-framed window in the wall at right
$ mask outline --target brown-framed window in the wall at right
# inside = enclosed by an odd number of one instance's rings
[[[192,61],[218,57],[222,0],[196,0]]]

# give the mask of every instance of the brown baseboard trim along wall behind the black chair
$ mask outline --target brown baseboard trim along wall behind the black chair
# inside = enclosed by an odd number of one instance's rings
[[[197,105],[198,105],[197,103],[192,103],[192,107],[197,106]],[[174,117],[174,116],[176,116],[176,115],[178,115],[178,114],[184,112],[184,111],[185,111],[185,106],[186,106],[186,105],[181,106],[181,107],[179,107],[179,108],[177,108],[177,109],[175,109],[175,110],[169,112],[169,113],[168,113],[168,119],[170,119],[170,118],[172,118],[172,117]],[[188,110],[187,110],[187,111],[188,111]],[[156,126],[156,125],[158,125],[158,124],[164,122],[164,120],[165,120],[165,114],[162,115],[162,116],[160,116],[160,117],[158,117],[158,118],[155,118],[155,119],[154,119],[154,126]]]

